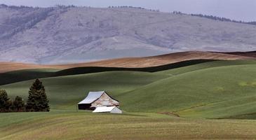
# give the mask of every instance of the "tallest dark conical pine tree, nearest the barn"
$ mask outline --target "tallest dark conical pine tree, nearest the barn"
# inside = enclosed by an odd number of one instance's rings
[[[29,88],[29,97],[27,99],[27,111],[50,111],[49,101],[46,96],[46,90],[43,83],[36,79]]]

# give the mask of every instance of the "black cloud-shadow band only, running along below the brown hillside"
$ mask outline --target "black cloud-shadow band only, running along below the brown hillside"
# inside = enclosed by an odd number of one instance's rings
[[[31,80],[35,78],[48,78],[58,76],[71,76],[85,73],[99,73],[106,71],[142,71],[142,72],[156,72],[167,69],[175,69],[182,66],[190,66],[193,64],[201,64],[205,62],[213,62],[213,59],[194,59],[173,64],[166,64],[161,66],[152,66],[144,68],[124,68],[124,67],[101,67],[101,66],[86,66],[74,67],[70,69],[25,69],[20,71],[10,71],[0,73],[0,85],[16,83],[23,80]]]

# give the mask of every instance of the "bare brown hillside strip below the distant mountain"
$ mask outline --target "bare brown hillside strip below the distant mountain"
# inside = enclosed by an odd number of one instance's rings
[[[243,55],[241,55],[242,53]],[[222,52],[176,52],[167,55],[159,55],[153,57],[130,57],[120,59],[107,59],[98,62],[86,62],[79,64],[58,64],[58,65],[39,65],[39,64],[22,64],[16,62],[0,62],[0,73],[8,71],[16,71],[22,69],[69,69],[72,67],[80,66],[107,66],[107,67],[149,67],[149,66],[160,66],[163,64],[172,64],[175,62],[182,62],[191,59],[255,59],[252,57],[252,52],[246,55],[246,52],[234,52],[235,55]]]

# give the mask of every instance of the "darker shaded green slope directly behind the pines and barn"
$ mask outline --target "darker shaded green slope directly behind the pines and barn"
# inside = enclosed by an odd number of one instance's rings
[[[156,80],[166,78],[166,74],[112,71],[104,73],[90,73],[75,76],[60,76],[55,78],[43,78],[43,85],[50,99],[50,104],[55,108],[76,109],[76,103],[86,97],[89,91],[106,90],[113,97],[122,92],[134,90],[142,85],[147,85]],[[34,80],[27,80],[11,85],[3,85],[12,97],[20,95],[26,99],[29,87]]]

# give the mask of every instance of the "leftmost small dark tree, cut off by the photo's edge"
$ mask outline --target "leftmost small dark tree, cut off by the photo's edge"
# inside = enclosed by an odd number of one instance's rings
[[[0,112],[11,111],[12,102],[8,98],[6,90],[0,90]]]

